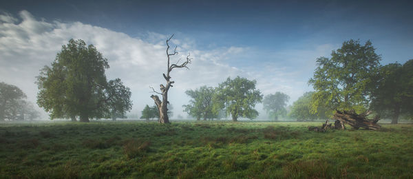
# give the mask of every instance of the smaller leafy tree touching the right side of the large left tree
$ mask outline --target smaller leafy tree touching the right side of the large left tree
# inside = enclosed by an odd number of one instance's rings
[[[132,109],[131,92],[129,87],[125,87],[120,78],[109,81],[107,85],[107,105],[109,105],[112,120],[116,118],[126,118],[126,112]]]

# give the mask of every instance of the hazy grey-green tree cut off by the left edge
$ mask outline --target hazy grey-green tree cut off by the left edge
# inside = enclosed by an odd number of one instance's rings
[[[21,107],[21,101],[26,95],[21,89],[14,85],[0,83],[0,120],[14,120],[17,118],[17,111]]]

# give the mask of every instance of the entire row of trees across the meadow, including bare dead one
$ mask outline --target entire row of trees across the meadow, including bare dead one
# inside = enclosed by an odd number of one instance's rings
[[[171,112],[167,94],[175,81],[171,81],[173,69],[188,68],[190,54],[182,63],[171,63],[170,58],[178,54],[176,48],[169,51],[167,39],[167,72],[162,74],[165,85],[160,92],[151,87],[155,105],[147,105],[142,118],[159,118],[160,123],[169,123]],[[371,110],[382,117],[392,118],[397,123],[400,116],[413,116],[413,59],[403,65],[390,63],[381,65],[381,56],[376,54],[370,41],[363,45],[359,40],[343,42],[341,48],[333,50],[331,57],[321,56],[308,84],[314,92],[306,92],[290,107],[288,116],[300,120],[330,118],[335,110],[351,110],[357,113]],[[41,69],[36,84],[39,87],[37,104],[49,112],[50,118],[70,118],[88,122],[89,118],[125,117],[131,110],[131,92],[120,78],[107,81],[105,70],[107,59],[94,45],[71,39],[62,46],[61,52],[50,66]],[[263,103],[268,116],[277,120],[286,116],[289,96],[282,92],[264,97],[255,89],[257,81],[237,76],[227,78],[218,87],[202,86],[185,93],[191,98],[183,105],[184,112],[197,120],[231,116],[256,118],[255,105]],[[24,101],[25,94],[18,87],[1,83],[0,120],[36,118],[30,103]],[[37,115],[37,116],[36,116]]]

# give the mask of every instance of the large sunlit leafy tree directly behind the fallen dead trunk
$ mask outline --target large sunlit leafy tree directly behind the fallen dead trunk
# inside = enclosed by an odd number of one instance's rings
[[[308,81],[315,89],[312,112],[319,106],[363,112],[370,102],[372,78],[377,74],[381,57],[374,52],[370,41],[360,45],[357,40],[343,42],[333,50],[331,58],[319,57],[313,78]]]

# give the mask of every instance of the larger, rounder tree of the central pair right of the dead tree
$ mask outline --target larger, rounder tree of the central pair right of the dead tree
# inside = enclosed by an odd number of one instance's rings
[[[257,81],[249,81],[247,78],[237,76],[233,80],[227,78],[220,83],[217,95],[214,96],[214,108],[219,111],[225,108],[226,114],[231,114],[233,121],[237,118],[256,118],[257,110],[254,109],[257,103],[261,103],[262,94],[260,89],[255,89]]]

